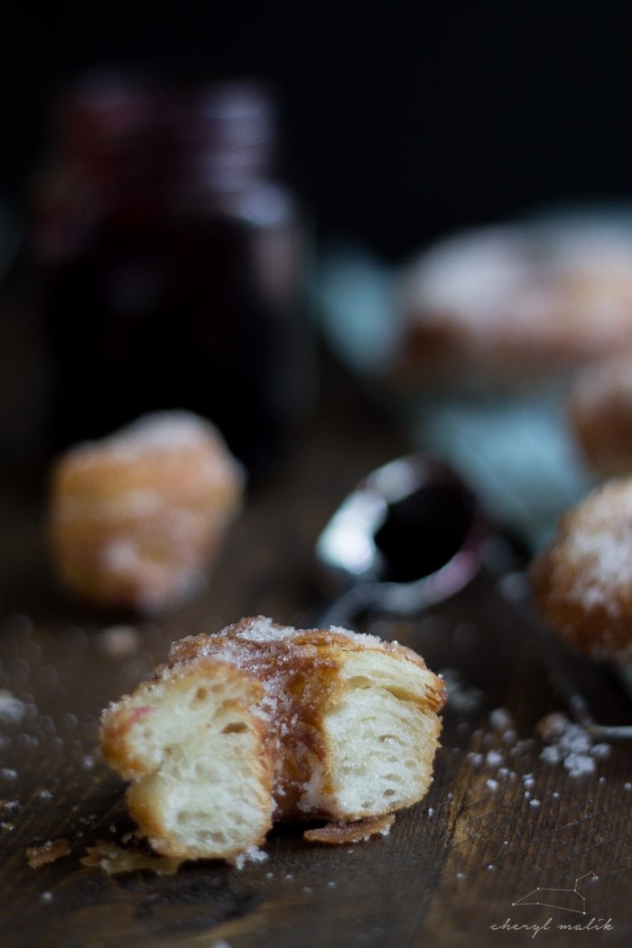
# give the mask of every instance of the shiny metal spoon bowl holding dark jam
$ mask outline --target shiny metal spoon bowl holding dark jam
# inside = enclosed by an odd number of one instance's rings
[[[442,602],[479,572],[487,536],[479,501],[447,465],[411,454],[377,468],[316,540],[320,577],[337,595],[319,624]]]

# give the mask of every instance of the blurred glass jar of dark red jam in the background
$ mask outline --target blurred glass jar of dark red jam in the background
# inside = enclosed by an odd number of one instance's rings
[[[120,73],[62,100],[37,191],[50,432],[59,449],[148,410],[220,428],[273,473],[309,399],[305,231],[257,83]]]

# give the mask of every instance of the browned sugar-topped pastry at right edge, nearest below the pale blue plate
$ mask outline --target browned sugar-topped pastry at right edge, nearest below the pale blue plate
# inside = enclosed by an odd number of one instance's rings
[[[544,622],[592,658],[632,662],[632,478],[573,507],[530,567]]]

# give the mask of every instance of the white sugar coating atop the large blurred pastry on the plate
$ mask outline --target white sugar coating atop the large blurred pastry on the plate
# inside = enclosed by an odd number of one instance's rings
[[[625,321],[631,277],[629,231],[498,226],[462,232],[426,250],[411,269],[408,292],[429,312],[458,315],[463,323],[501,327],[511,316],[529,330],[535,318],[533,331],[546,335],[539,319],[565,301],[575,304],[576,324]]]

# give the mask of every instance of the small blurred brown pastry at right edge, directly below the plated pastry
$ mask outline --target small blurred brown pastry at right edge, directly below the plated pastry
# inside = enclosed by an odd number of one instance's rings
[[[587,365],[571,380],[567,404],[588,467],[604,478],[632,473],[632,353]]]

